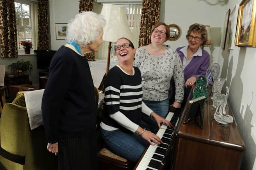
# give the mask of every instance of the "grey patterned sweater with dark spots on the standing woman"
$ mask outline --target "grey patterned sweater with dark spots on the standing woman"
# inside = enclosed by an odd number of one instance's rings
[[[141,72],[144,100],[166,100],[170,80],[173,76],[176,88],[175,101],[183,101],[184,74],[180,57],[176,51],[166,48],[164,54],[154,56],[146,51],[146,46],[142,46],[136,51],[133,65],[138,67]]]

